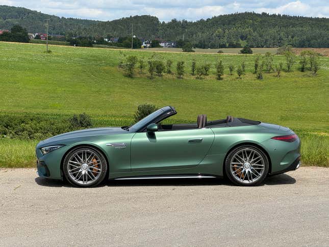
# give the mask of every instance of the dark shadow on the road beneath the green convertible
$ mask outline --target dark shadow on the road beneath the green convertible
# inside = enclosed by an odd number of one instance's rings
[[[35,182],[41,186],[47,187],[73,187],[67,181],[44,179],[37,177]],[[280,174],[268,177],[259,186],[263,185],[283,185],[294,184],[296,180],[287,174]],[[144,180],[109,180],[102,183],[98,187],[112,186],[112,187],[126,187],[126,186],[214,186],[226,185],[234,186],[228,179],[214,178],[214,179],[144,179]]]

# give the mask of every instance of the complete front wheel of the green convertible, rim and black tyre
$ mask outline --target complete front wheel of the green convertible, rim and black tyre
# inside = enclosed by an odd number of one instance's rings
[[[90,187],[104,180],[107,163],[104,156],[96,149],[80,146],[65,156],[63,171],[72,185]]]

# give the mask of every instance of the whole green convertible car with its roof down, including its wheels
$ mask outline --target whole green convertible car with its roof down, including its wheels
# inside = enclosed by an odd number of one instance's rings
[[[289,128],[227,116],[161,124],[163,107],[130,127],[73,131],[39,142],[41,177],[90,187],[105,179],[215,178],[256,185],[300,165],[300,140]],[[166,121],[168,122],[168,121]]]

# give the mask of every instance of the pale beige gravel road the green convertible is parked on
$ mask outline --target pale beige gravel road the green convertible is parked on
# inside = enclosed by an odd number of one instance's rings
[[[74,188],[0,169],[0,246],[328,246],[329,168],[258,187],[222,179]]]

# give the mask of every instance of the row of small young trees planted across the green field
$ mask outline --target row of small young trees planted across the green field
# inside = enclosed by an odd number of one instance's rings
[[[256,75],[256,78],[262,80],[264,71],[266,73],[275,72],[278,78],[280,78],[281,72],[284,69],[286,72],[291,72],[292,66],[296,63],[297,56],[295,56],[295,54],[293,54],[291,51],[284,52],[284,56],[285,63],[279,62],[278,64],[274,64],[274,55],[270,52],[267,52],[263,59],[261,55],[256,55],[254,60],[254,74]],[[320,68],[319,55],[313,51],[303,51],[299,56],[299,64],[301,72],[310,70],[315,76]],[[210,63],[198,65],[196,60],[193,59],[190,66],[190,74],[195,76],[197,79],[201,79],[210,75],[211,67],[212,64]],[[162,77],[164,73],[169,75],[173,75],[175,73],[178,78],[183,78],[186,74],[184,61],[178,61],[175,65],[175,68],[173,68],[172,60],[168,59],[164,62],[156,55],[153,55],[147,62],[143,57],[137,58],[136,56],[128,56],[126,57],[125,62],[120,62],[119,68],[124,69],[125,76],[130,78],[134,78],[136,76],[136,68],[138,69],[139,74],[145,73],[145,70],[147,69],[150,79],[153,79],[155,75]],[[214,68],[216,79],[222,80],[225,69],[222,60],[218,60],[214,65]],[[235,67],[233,63],[229,63],[227,68],[229,69],[230,76],[236,72],[239,79],[241,79],[242,76],[246,73],[246,64],[244,61],[242,61],[241,64],[239,64],[237,67]]]

